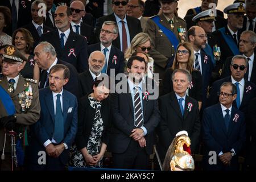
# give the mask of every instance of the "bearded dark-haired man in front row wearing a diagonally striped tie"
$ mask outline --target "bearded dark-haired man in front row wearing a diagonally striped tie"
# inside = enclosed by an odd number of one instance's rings
[[[114,168],[148,169],[160,115],[157,97],[152,95],[158,93],[148,93],[142,82],[145,71],[146,61],[132,56],[127,62],[129,76],[117,84],[121,92],[113,94],[109,150]]]

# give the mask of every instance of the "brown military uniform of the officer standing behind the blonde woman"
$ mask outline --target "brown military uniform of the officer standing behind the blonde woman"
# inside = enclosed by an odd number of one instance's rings
[[[155,73],[159,73],[159,78],[162,79],[166,65],[171,57],[175,55],[176,50],[163,31],[154,22],[154,20],[152,20],[154,17],[155,16],[152,16],[147,20],[144,32],[152,39],[151,45],[154,49],[151,49],[149,55],[154,59]],[[174,16],[173,22],[170,24],[163,13],[159,15],[159,19],[162,26],[174,32],[179,43],[181,42],[181,36],[185,36],[187,38],[187,24],[184,19]],[[183,32],[180,32],[180,30]]]

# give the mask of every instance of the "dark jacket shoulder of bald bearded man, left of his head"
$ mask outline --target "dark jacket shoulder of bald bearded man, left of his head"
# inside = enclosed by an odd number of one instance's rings
[[[79,88],[81,90],[81,96],[93,92],[93,77],[90,74],[89,69],[79,74]]]

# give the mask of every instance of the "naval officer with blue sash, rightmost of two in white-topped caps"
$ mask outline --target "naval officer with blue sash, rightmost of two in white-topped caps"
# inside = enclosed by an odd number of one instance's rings
[[[228,25],[213,32],[213,35],[218,38],[222,64],[224,64],[227,57],[239,54],[238,40],[240,40],[241,32],[238,30],[241,30],[243,26],[244,8],[245,4],[243,3],[234,3],[227,6],[224,13],[228,14]]]

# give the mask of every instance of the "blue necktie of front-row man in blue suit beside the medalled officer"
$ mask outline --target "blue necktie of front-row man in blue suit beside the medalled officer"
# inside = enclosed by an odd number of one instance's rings
[[[53,134],[53,139],[56,141],[56,143],[60,143],[64,138],[64,118],[61,110],[60,96],[60,94],[57,94],[55,127]]]

